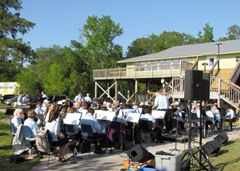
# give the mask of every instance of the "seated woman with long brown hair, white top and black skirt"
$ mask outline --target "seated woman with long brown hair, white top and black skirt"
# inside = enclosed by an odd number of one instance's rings
[[[56,103],[52,103],[49,111],[49,119],[46,122],[45,130],[49,130],[51,133],[51,145],[59,146],[59,161],[65,162],[64,154],[66,153],[68,138],[61,136],[60,124],[58,122],[58,110]]]

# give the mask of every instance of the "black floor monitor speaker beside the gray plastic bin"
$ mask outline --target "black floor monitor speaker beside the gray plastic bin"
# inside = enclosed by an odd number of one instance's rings
[[[151,160],[155,157],[152,153],[147,151],[144,147],[142,147],[139,144],[135,145],[133,148],[129,150],[128,156],[133,162],[140,163],[146,162],[147,160]]]

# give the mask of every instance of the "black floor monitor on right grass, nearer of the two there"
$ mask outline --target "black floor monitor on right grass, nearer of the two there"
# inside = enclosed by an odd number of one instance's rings
[[[217,154],[220,148],[221,144],[217,140],[208,141],[206,144],[203,145],[203,151],[209,156]]]

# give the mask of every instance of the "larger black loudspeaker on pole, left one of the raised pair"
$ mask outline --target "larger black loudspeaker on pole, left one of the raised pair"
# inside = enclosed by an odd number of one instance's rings
[[[184,82],[185,100],[202,100],[203,72],[198,70],[186,70]]]

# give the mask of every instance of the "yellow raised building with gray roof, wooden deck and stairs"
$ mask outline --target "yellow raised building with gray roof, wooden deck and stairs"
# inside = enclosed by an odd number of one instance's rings
[[[183,99],[185,71],[201,70],[211,76],[210,99],[223,100],[237,107],[239,61],[240,40],[175,46],[158,53],[118,61],[126,65],[124,68],[94,70],[95,97],[107,95],[114,101],[121,94],[118,82],[127,81],[130,92],[126,97],[128,100],[138,93],[139,83],[146,84],[146,92],[162,91],[173,101]],[[105,84],[101,84],[103,82]],[[110,91],[114,91],[113,96]],[[151,98],[151,95],[146,95],[146,98]]]

